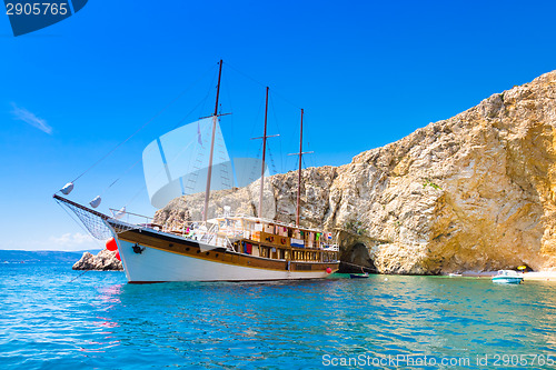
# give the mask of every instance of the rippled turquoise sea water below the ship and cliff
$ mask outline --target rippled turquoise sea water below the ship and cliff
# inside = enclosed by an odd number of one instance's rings
[[[374,276],[133,286],[122,272],[97,271],[71,282],[79,273],[0,266],[2,369],[555,368],[550,282]]]

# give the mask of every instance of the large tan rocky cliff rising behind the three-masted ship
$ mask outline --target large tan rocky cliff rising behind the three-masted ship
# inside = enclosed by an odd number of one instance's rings
[[[448,273],[527,264],[556,270],[556,71],[450,119],[355,157],[304,170],[302,223],[336,230],[344,258],[364,244],[385,273]],[[211,197],[256,214],[259,183]],[[264,217],[292,222],[297,173],[265,182]],[[202,194],[156,221],[199,219]]]

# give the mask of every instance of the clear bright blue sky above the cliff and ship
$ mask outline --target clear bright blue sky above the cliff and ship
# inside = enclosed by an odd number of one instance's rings
[[[248,139],[261,133],[268,84],[276,169],[295,169],[286,154],[297,150],[298,108],[316,152],[307,166],[339,166],[556,69],[555,13],[554,1],[90,0],[18,38],[0,14],[0,249],[101,247],[52,193],[171,101],[76,182],[72,199],[88,202],[157,136],[209,116],[220,58],[232,156],[257,156]],[[128,210],[152,213],[142,182],[137,166],[101,211],[139,193]]]

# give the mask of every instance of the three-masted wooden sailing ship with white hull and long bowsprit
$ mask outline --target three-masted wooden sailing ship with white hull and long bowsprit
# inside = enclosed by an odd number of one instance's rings
[[[115,246],[123,263],[126,277],[130,283],[150,283],[166,281],[264,281],[322,279],[338,270],[338,247],[332,242],[332,234],[317,229],[302,228],[299,224],[299,199],[301,187],[302,143],[299,149],[299,189],[297,199],[296,224],[285,224],[262,218],[262,189],[265,181],[265,151],[267,136],[268,88],[266,92],[265,131],[262,136],[262,162],[258,217],[222,214],[208,219],[208,204],[212,182],[212,170],[226,163],[226,158],[215,161],[215,142],[221,132],[218,120],[218,100],[222,61],[219,63],[218,87],[215,112],[211,121],[211,144],[206,167],[207,181],[205,191],[205,211],[202,220],[185,222],[179,228],[148,223],[130,223],[122,220],[125,210],[112,217],[96,211],[98,202],[89,207],[73,202],[66,197],[53,198],[72,210],[90,233],[98,239],[109,239],[108,246]],[[207,119],[206,119],[207,120]],[[206,122],[205,122],[206,123]],[[193,122],[195,124],[195,122]],[[200,126],[200,123],[198,123]],[[190,126],[191,127],[191,126]],[[301,110],[302,140],[302,110]],[[167,173],[170,169],[163,159],[161,140],[156,140],[160,149],[161,166]],[[152,149],[151,148],[151,149]],[[143,152],[143,161],[147,147]],[[155,150],[156,152],[156,150]],[[199,170],[201,171],[201,170]],[[197,172],[199,172],[197,171]],[[205,169],[201,171],[205,172]],[[170,173],[171,174],[171,173]],[[168,178],[170,179],[170,174]],[[168,189],[178,183],[183,187],[188,172],[179,180],[170,181],[170,187],[160,186],[149,189],[153,198],[165,199]],[[199,173],[195,174],[199,176]],[[173,186],[171,186],[173,183]],[[73,184],[68,183],[61,192],[69,194]],[[217,184],[218,188],[218,184]],[[158,196],[157,196],[158,194]],[[165,196],[166,194],[166,196]]]

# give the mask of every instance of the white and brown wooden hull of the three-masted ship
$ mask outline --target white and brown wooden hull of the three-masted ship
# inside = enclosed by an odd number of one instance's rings
[[[151,230],[117,236],[130,283],[324,279],[339,262],[286,261],[230,252]]]

